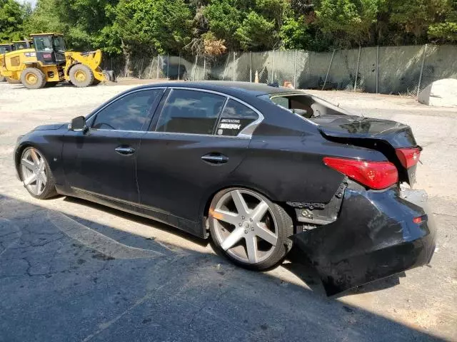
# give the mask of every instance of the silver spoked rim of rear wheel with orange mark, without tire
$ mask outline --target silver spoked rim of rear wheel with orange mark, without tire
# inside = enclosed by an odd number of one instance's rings
[[[216,239],[231,257],[257,264],[273,254],[278,225],[268,203],[250,190],[231,190],[211,208]]]

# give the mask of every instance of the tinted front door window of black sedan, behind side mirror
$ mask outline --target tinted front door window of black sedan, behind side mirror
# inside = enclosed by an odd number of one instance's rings
[[[125,95],[99,111],[92,128],[104,130],[145,130],[149,110],[161,89],[142,90]]]

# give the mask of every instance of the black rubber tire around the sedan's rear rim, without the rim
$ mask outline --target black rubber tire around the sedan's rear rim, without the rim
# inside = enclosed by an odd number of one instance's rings
[[[243,188],[238,188],[238,187],[233,187],[225,190],[221,190],[218,192],[214,198],[211,200],[211,204],[209,207],[209,212],[208,212],[208,220],[209,220],[209,230],[211,234],[211,239],[214,242],[214,245],[217,249],[218,252],[221,254],[224,254],[225,257],[230,259],[234,264],[237,264],[239,266],[242,266],[243,268],[246,269],[252,269],[256,271],[263,271],[266,269],[270,269],[271,267],[275,266],[278,264],[281,260],[283,260],[284,257],[286,257],[286,254],[288,251],[291,249],[292,242],[289,237],[293,234],[293,222],[291,217],[287,214],[287,212],[278,204],[271,202],[267,197],[259,194],[258,192],[256,195],[261,197],[261,199],[268,204],[268,207],[271,209],[271,213],[274,215],[273,220],[276,220],[276,225],[277,225],[277,243],[276,246],[273,247],[273,252],[267,259],[262,260],[261,262],[258,263],[246,263],[243,261],[240,261],[234,257],[232,257],[228,252],[226,252],[222,247],[221,247],[221,242],[216,238],[216,231],[214,227],[214,208],[216,207],[216,204],[219,202],[219,200],[224,197],[228,192],[231,192],[233,190],[248,190],[248,189],[243,189]],[[252,190],[248,190],[249,192],[253,192]]]

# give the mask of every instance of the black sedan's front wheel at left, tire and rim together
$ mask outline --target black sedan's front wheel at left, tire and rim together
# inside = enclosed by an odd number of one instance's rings
[[[54,177],[46,158],[34,147],[26,147],[21,155],[21,179],[30,195],[46,199],[57,195]]]

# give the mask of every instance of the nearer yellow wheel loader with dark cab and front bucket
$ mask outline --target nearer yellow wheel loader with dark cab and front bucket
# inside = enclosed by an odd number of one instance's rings
[[[29,89],[56,86],[69,81],[76,87],[115,81],[112,71],[102,71],[101,51],[66,51],[60,33],[32,34],[34,48],[0,56],[0,75],[20,80]]]

